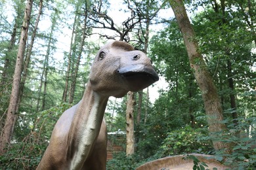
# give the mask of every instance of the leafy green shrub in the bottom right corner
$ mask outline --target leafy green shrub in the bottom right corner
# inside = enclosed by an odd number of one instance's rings
[[[216,151],[216,158],[219,161],[223,161],[226,165],[234,167],[234,169],[255,169],[256,116],[238,118],[238,122],[239,124],[236,125],[236,128],[234,128],[234,124],[230,124],[228,126],[230,131],[220,137],[220,140],[233,144],[233,152],[225,154],[224,150]]]

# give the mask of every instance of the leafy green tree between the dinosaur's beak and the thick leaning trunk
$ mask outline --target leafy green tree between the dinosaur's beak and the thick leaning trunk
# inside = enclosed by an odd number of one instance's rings
[[[169,92],[163,92],[168,93],[166,100],[169,101],[170,106],[161,106],[163,110],[166,109],[167,119],[171,114],[175,115],[170,117],[172,121],[175,117],[177,119],[182,117],[184,122],[195,126],[195,118],[199,116],[197,113],[202,110],[198,105],[202,103],[202,99],[197,95],[199,92],[176,20],[169,21],[167,28],[152,37],[150,56],[158,73],[169,83],[167,90]],[[173,129],[176,126],[169,128]]]

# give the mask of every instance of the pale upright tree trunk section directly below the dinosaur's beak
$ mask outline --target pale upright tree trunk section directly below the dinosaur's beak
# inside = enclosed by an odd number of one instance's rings
[[[128,92],[127,108],[126,108],[126,156],[131,156],[135,151],[135,135],[134,135],[134,106],[135,97],[133,92]]]

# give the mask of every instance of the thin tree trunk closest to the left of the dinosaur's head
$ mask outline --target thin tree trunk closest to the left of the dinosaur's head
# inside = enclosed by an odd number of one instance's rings
[[[87,7],[87,4],[85,5]],[[75,93],[75,84],[77,80],[77,73],[79,69],[80,59],[83,52],[83,46],[85,44],[85,37],[86,37],[86,31],[87,31],[87,8],[85,8],[85,20],[83,20],[83,37],[81,39],[81,46],[79,48],[79,54],[77,56],[77,61],[75,64],[75,70],[74,70],[74,76],[72,77],[72,84],[70,85],[70,93],[69,93],[69,103],[73,103],[74,100],[74,93]]]

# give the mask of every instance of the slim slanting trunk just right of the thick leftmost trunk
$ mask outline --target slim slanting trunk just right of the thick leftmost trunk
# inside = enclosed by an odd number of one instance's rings
[[[18,105],[20,105],[20,102],[22,100],[22,95],[23,95],[23,92],[24,92],[25,82],[26,82],[26,78],[27,78],[27,75],[28,75],[28,67],[29,67],[30,58],[31,58],[31,55],[32,55],[33,42],[35,41],[35,35],[37,33],[37,26],[38,26],[38,23],[39,23],[39,19],[40,19],[40,16],[41,16],[42,9],[43,9],[43,0],[40,0],[39,1],[39,10],[38,10],[38,14],[37,14],[37,19],[35,20],[35,27],[33,29],[30,46],[28,47],[28,52],[26,54],[26,58],[25,58],[25,62],[24,62],[22,80],[20,82],[20,95],[18,97]]]

